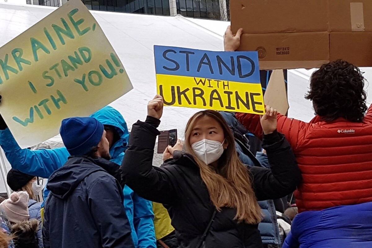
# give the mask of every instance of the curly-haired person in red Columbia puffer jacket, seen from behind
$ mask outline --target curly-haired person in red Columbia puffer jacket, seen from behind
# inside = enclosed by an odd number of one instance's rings
[[[238,49],[241,33],[226,31],[225,51]],[[312,74],[306,96],[317,116],[307,123],[278,114],[278,132],[291,144],[302,173],[295,191],[299,212],[372,202],[372,107],[366,112],[362,74],[343,60],[324,64]],[[262,137],[258,115],[236,116]]]

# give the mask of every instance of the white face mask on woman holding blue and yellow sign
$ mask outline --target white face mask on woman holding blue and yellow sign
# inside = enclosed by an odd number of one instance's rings
[[[201,141],[195,142],[192,144],[191,148],[196,156],[206,164],[217,161],[222,153],[224,153],[222,143],[210,139],[202,139]]]

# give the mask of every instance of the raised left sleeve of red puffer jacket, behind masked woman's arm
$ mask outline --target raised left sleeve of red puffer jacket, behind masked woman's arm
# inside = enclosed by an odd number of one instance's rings
[[[251,133],[262,140],[262,127],[259,115],[236,113],[236,117]],[[298,144],[304,140],[305,133],[310,125],[310,123],[278,114],[278,132],[285,136],[289,144],[291,144],[292,149],[296,149]]]

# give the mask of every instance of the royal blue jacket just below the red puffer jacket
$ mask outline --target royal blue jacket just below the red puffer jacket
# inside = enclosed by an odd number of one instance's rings
[[[372,247],[372,202],[302,212],[283,248]]]

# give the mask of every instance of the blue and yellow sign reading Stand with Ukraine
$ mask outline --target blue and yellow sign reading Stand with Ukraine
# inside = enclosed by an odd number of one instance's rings
[[[264,113],[257,52],[154,46],[154,53],[166,106]]]

